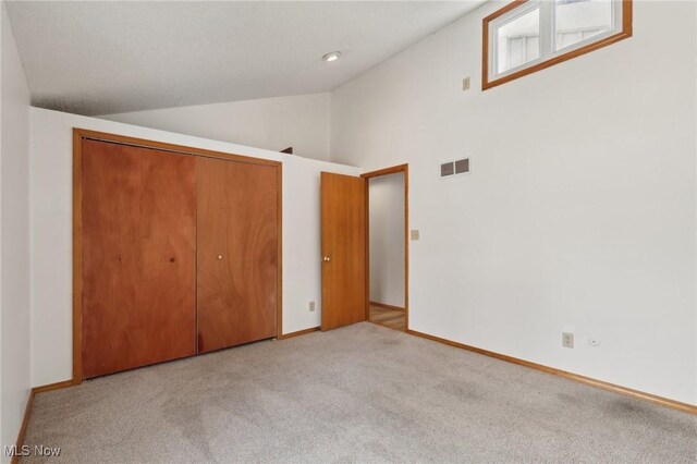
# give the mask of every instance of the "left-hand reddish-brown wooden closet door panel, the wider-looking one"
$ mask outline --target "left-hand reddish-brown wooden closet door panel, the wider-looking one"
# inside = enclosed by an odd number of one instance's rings
[[[83,377],[196,352],[196,160],[82,143]]]

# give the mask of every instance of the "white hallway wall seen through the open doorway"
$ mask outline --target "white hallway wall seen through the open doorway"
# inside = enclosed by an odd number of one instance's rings
[[[404,307],[404,174],[368,181],[370,301]]]

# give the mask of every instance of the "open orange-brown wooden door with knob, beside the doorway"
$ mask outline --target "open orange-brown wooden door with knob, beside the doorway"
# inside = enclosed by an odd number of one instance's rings
[[[366,320],[366,181],[321,173],[322,330]]]

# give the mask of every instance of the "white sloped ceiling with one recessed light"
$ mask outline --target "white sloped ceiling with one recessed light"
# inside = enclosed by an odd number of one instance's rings
[[[328,91],[477,1],[11,1],[33,105],[108,114]],[[339,61],[321,57],[341,50]]]

